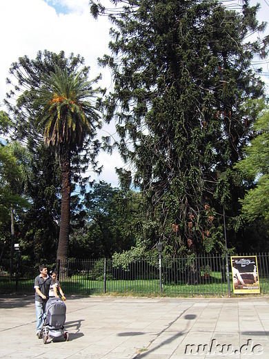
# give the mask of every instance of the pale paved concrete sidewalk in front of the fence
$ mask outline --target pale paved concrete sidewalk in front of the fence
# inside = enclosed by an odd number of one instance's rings
[[[268,297],[93,296],[66,307],[70,341],[44,345],[34,296],[0,297],[0,358],[269,358]]]

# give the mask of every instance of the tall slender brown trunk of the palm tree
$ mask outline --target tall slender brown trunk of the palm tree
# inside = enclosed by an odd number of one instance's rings
[[[57,260],[60,261],[61,277],[67,276],[68,270],[68,242],[70,227],[70,194],[71,194],[71,166],[69,148],[63,148],[60,156],[61,162],[61,224]]]

